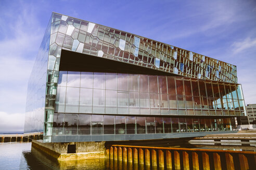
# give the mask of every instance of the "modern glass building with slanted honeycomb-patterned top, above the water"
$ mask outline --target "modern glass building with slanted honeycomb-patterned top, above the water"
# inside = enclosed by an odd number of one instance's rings
[[[246,116],[236,66],[53,13],[28,86],[25,133],[44,142],[232,132]]]

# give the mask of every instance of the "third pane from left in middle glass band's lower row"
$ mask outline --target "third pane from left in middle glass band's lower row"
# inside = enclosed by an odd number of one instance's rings
[[[80,89],[80,113],[92,113],[93,89]]]

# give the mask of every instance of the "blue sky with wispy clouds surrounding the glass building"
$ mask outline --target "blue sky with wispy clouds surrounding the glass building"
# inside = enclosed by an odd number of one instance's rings
[[[27,84],[51,13],[113,27],[237,66],[256,103],[256,1],[0,1],[0,133],[23,132]]]

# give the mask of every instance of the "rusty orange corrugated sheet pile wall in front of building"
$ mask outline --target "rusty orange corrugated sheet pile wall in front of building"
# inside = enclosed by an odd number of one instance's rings
[[[105,157],[121,169],[254,169],[256,152],[111,145]]]

